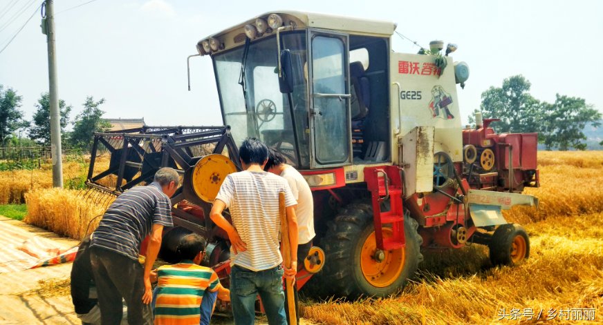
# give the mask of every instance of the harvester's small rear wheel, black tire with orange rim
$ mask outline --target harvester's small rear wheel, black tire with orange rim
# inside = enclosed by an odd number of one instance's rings
[[[494,265],[516,265],[530,257],[530,239],[519,224],[499,226],[494,230],[488,248]]]

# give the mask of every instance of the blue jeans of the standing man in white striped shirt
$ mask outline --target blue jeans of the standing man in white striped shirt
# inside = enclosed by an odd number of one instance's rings
[[[255,322],[255,298],[259,294],[268,324],[286,325],[283,273],[280,266],[254,272],[240,266],[230,270],[230,304],[234,324],[252,325]]]

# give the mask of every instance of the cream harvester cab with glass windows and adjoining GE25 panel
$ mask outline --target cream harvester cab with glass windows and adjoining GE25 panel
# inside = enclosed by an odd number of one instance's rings
[[[442,42],[432,42],[434,55],[392,52],[395,29],[279,12],[202,39],[197,49],[212,57],[236,142],[257,137],[296,168],[324,171],[308,174],[317,190],[362,183],[364,168],[385,163],[407,165],[407,195],[431,192],[435,152],[463,161],[455,83],[469,72],[440,54]],[[411,157],[418,150],[420,166]]]

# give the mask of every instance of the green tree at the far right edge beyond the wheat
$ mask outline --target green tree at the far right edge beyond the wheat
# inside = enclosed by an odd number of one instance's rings
[[[582,98],[557,94],[555,103],[544,103],[544,108],[544,124],[539,140],[547,150],[553,147],[559,150],[585,150],[584,127],[589,122],[593,126],[601,125],[601,113]]]

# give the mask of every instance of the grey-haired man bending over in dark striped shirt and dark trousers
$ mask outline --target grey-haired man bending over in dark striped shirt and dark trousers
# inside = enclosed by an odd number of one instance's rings
[[[149,303],[151,268],[161,246],[164,226],[173,226],[169,197],[178,187],[173,168],[161,168],[149,186],[120,195],[104,213],[92,235],[90,260],[102,324],[119,324],[122,298],[129,324],[153,324]],[[138,262],[142,239],[149,236],[145,268]]]

